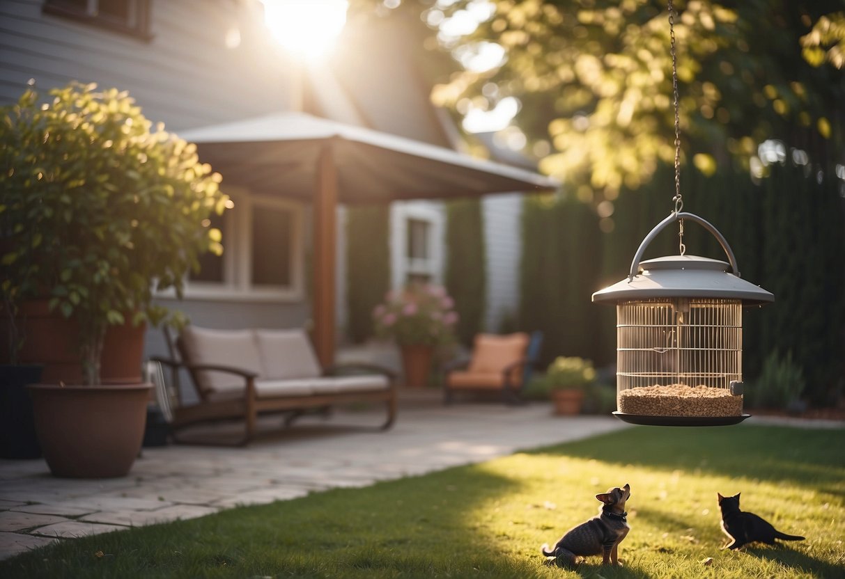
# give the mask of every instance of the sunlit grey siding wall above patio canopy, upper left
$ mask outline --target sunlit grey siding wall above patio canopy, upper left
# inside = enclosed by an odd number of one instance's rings
[[[257,0],[154,0],[150,41],[41,14],[41,0],[0,2],[0,104],[30,78],[42,91],[70,80],[128,90],[154,122],[179,131],[288,108],[292,68]],[[226,46],[227,35],[240,44]]]

